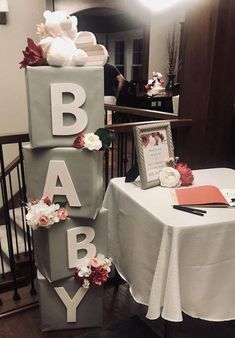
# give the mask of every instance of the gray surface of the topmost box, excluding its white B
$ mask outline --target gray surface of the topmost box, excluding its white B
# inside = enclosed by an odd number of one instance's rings
[[[29,134],[33,148],[71,147],[76,137],[54,135],[52,126],[51,84],[72,83],[81,86],[86,99],[79,108],[86,112],[88,123],[83,133],[95,132],[104,125],[104,69],[103,67],[27,67]],[[61,95],[60,95],[61,96]],[[76,95],[77,97],[79,95]],[[62,103],[70,104],[74,95],[65,92]],[[58,103],[57,100],[53,100]],[[83,100],[82,100],[83,101]],[[66,107],[65,107],[65,110]],[[69,108],[68,108],[69,110]],[[71,111],[63,113],[63,125],[71,126],[75,117]]]

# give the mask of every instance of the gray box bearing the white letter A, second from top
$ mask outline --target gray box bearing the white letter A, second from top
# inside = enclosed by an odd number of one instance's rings
[[[56,172],[49,170],[49,165],[60,161],[67,168],[66,175],[72,180],[73,189],[69,187],[69,195],[71,195],[72,190],[75,191],[81,206],[78,207],[78,204],[70,206],[71,203],[66,195],[54,195],[53,201],[66,207],[70,217],[96,217],[101,208],[104,193],[102,151],[79,150],[72,147],[32,149],[27,144],[23,147],[23,155],[28,200],[32,198],[40,199],[44,195],[49,171],[52,174]],[[53,187],[60,185],[61,182],[56,182]],[[46,195],[52,197],[53,193],[54,191],[47,191]]]

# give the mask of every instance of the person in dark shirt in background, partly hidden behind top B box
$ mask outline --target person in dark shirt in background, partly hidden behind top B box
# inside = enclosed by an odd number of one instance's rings
[[[114,65],[106,63],[104,65],[104,103],[116,104],[120,91],[125,83],[125,79]],[[107,124],[112,124],[112,112],[107,112]]]

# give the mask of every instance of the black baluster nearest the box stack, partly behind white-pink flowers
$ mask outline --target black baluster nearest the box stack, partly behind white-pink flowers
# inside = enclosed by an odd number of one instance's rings
[[[22,196],[23,202],[26,204],[27,196],[26,196],[26,184],[25,184],[25,175],[24,175],[24,163],[23,163],[23,151],[22,151],[22,144],[19,142],[19,154],[20,154],[20,169],[21,169],[21,178],[22,178]],[[32,250],[31,250],[31,237],[30,237],[30,228],[26,222],[26,236],[28,242],[28,253],[29,253],[29,265],[30,265],[30,277],[31,277],[31,295],[36,295],[37,291],[34,286],[34,262],[32,257]]]

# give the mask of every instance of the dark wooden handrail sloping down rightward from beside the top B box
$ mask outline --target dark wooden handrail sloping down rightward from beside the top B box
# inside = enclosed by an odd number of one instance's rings
[[[177,119],[178,116],[175,116],[171,113],[164,113],[157,110],[150,110],[150,109],[141,109],[141,108],[132,108],[132,107],[125,107],[125,106],[116,106],[113,104],[105,104],[104,108],[106,110],[111,110],[115,112],[130,114],[130,115],[138,115],[142,117],[149,117],[158,120],[166,120],[166,119]]]

